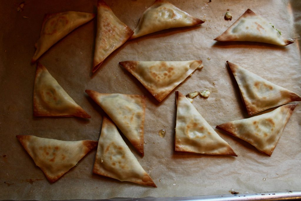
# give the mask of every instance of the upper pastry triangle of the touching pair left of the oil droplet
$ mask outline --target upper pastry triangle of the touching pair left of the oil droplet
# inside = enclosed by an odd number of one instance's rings
[[[143,152],[145,96],[85,91],[114,121],[141,155]]]

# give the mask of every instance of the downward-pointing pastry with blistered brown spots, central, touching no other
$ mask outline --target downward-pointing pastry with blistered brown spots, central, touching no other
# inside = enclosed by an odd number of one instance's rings
[[[159,102],[197,68],[203,68],[200,60],[121,61],[119,64],[134,75]]]

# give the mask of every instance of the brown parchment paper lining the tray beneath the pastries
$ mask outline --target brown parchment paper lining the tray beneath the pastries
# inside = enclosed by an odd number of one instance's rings
[[[106,1],[116,16],[134,29],[153,1]],[[111,197],[173,197],[300,190],[301,108],[296,107],[271,157],[253,146],[221,133],[238,157],[175,153],[175,90],[183,94],[207,89],[208,99],[196,97],[194,106],[215,127],[247,118],[234,78],[226,61],[301,94],[298,42],[286,47],[250,42],[219,43],[213,39],[227,29],[247,8],[281,30],[285,38],[298,39],[294,16],[298,1],[170,1],[189,14],[206,19],[201,26],[165,30],[126,42],[91,76],[96,19],[79,27],[51,47],[41,58],[51,75],[84,108],[91,119],[33,117],[33,83],[36,65],[30,60],[45,13],[82,11],[96,13],[95,1],[3,1],[0,11],[0,199],[107,199]],[[227,9],[232,21],[223,19]],[[293,12],[294,11],[294,12]],[[28,18],[24,18],[28,17]],[[208,60],[207,58],[210,58]],[[201,59],[197,70],[161,103],[119,61],[184,61]],[[57,182],[50,184],[35,166],[16,135],[28,134],[58,140],[98,140],[104,112],[85,93],[143,94],[147,97],[144,157],[126,140],[157,188],[120,182],[92,174],[96,150],[86,155]],[[160,129],[166,130],[161,138]]]

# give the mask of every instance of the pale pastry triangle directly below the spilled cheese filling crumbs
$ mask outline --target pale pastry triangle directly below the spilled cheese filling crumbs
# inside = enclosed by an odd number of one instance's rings
[[[175,151],[237,156],[180,92],[176,92]]]

